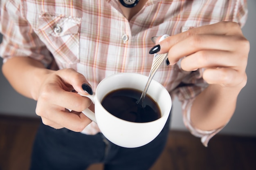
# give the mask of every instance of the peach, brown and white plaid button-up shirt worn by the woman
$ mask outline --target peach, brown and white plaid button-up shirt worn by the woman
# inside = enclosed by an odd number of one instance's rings
[[[148,75],[154,45],[150,38],[175,35],[188,29],[219,21],[240,26],[247,17],[246,0],[148,0],[128,21],[117,0],[2,0],[0,32],[4,35],[0,55],[4,62],[13,56],[40,60],[48,68],[74,68],[82,73],[93,90],[109,75],[133,72]],[[202,131],[190,122],[193,99],[207,84],[202,70],[187,72],[180,62],[162,64],[154,79],[172,97],[182,102],[184,124],[209,139],[222,128]],[[83,131],[99,132],[91,123]]]

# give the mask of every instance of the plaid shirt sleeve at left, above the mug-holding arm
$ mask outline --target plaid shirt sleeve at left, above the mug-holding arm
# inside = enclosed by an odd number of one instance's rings
[[[11,57],[31,57],[49,66],[53,57],[31,25],[22,17],[20,1],[3,1],[0,9],[0,32],[3,35],[0,56],[6,62]]]

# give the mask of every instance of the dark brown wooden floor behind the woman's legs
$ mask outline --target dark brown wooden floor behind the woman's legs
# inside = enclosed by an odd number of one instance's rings
[[[40,120],[0,115],[0,170],[27,170]],[[102,170],[101,164],[88,170]],[[256,170],[256,137],[216,135],[205,148],[188,132],[169,132],[150,170]]]

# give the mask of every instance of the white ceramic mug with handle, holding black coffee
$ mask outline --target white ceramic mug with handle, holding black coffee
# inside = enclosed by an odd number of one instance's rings
[[[148,77],[141,74],[118,73],[103,79],[93,95],[83,95],[95,104],[95,114],[89,109],[85,109],[83,113],[98,124],[99,129],[109,141],[118,146],[136,148],[148,144],[159,135],[168,119],[172,105],[171,97],[164,86],[154,79],[149,85],[147,94],[155,99],[162,114],[155,121],[146,123],[126,121],[108,113],[101,105],[102,99],[111,91],[120,88],[143,91],[147,80]]]

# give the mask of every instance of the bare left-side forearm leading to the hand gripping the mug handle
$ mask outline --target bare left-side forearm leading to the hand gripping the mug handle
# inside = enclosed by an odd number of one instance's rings
[[[29,57],[13,57],[3,64],[2,72],[18,93],[37,100],[38,88],[44,75],[52,71]]]

